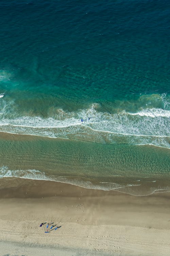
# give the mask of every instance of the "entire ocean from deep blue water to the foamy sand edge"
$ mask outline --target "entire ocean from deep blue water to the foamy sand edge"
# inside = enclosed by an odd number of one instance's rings
[[[170,2],[0,10],[0,178],[170,191]]]

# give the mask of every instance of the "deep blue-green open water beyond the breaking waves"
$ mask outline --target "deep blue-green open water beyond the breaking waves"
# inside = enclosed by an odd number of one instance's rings
[[[0,7],[0,69],[12,75],[2,91],[83,103],[170,92],[169,1],[1,1]]]

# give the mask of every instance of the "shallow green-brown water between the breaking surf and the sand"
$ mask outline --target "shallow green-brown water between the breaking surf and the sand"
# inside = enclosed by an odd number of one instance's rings
[[[0,177],[54,180],[136,196],[170,191],[169,151],[0,133]]]

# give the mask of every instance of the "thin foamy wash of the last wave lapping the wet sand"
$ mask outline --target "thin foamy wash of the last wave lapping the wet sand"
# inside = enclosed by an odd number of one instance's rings
[[[51,176],[46,175],[45,172],[41,172],[38,170],[10,170],[7,166],[0,167],[0,178],[4,177],[17,177],[17,178],[24,178],[24,179],[35,179],[35,180],[51,180],[57,181],[62,183],[67,183],[71,185],[76,185],[83,188],[88,189],[99,189],[99,190],[116,190],[122,193],[132,194],[134,196],[147,196],[149,194],[155,192],[166,192],[169,191],[170,188],[165,185],[165,188],[160,188],[160,186],[151,186],[148,187],[146,190],[145,182],[143,184],[118,184],[112,182],[96,182],[94,183],[91,180],[83,179],[79,177],[66,177],[66,176]],[[140,181],[140,180],[139,180]],[[156,181],[151,181],[152,183],[156,184]],[[12,186],[12,185],[11,185]]]

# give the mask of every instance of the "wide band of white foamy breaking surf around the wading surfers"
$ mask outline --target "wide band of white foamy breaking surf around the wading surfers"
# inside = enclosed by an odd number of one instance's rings
[[[88,109],[74,112],[57,109],[53,117],[45,119],[17,117],[15,112],[11,114],[11,106],[5,105],[3,99],[0,104],[1,132],[52,138],[91,139],[99,143],[119,143],[120,140],[122,143],[124,140],[124,143],[128,144],[153,144],[169,148],[170,110],[167,109],[148,108],[136,113],[108,113],[99,111],[99,104],[92,104]]]

